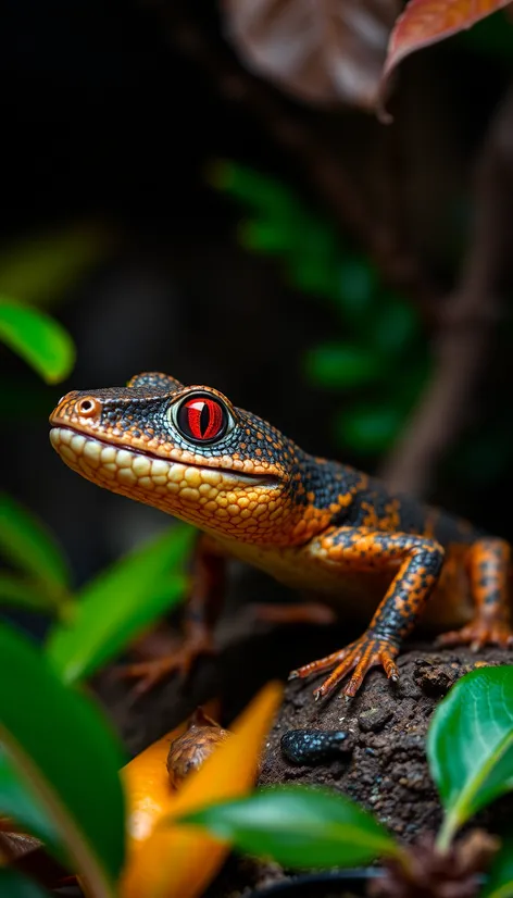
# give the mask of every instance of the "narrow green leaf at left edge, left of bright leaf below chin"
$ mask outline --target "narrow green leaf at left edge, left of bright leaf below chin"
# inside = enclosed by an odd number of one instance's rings
[[[50,532],[10,496],[0,494],[0,552],[45,584],[55,600],[67,598],[70,572]]]

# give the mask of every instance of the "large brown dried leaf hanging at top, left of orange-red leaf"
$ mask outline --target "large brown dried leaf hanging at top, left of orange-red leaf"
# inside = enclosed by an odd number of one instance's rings
[[[372,108],[398,0],[225,0],[242,62],[310,103]]]

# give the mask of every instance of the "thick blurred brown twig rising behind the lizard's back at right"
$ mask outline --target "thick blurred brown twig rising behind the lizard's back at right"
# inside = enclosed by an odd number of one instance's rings
[[[460,285],[447,300],[435,372],[381,476],[423,495],[468,421],[511,279],[513,251],[513,85],[498,107],[478,160],[473,233]]]

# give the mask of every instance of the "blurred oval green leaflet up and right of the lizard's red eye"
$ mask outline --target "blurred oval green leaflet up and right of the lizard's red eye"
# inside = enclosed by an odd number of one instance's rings
[[[311,350],[305,359],[306,375],[323,387],[347,389],[383,376],[383,361],[376,352],[351,344],[326,344]]]

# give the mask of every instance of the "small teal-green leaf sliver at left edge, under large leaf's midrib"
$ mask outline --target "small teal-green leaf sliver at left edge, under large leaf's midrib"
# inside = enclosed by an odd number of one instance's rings
[[[0,746],[0,815],[14,820],[27,833],[45,843],[61,860],[65,851],[57,827],[35,800]],[[0,893],[1,894],[1,893]]]

